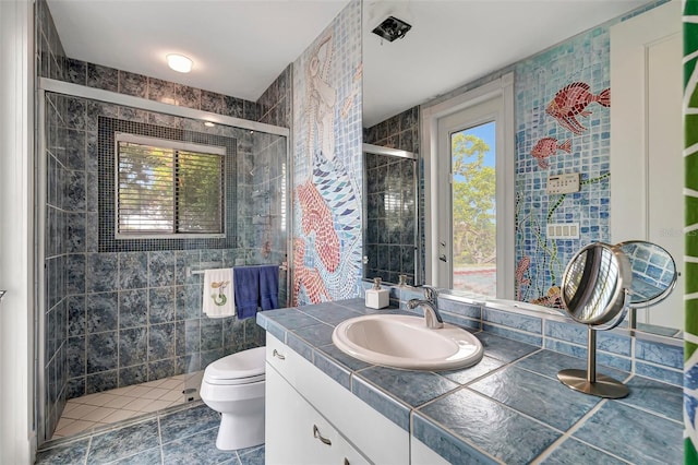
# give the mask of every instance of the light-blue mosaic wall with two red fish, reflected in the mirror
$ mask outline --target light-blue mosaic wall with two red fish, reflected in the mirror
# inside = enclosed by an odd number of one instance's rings
[[[516,65],[519,300],[558,303],[557,286],[567,262],[580,247],[610,239],[611,117],[603,98],[610,87],[609,63],[609,27],[603,26]],[[556,112],[554,102],[574,98],[591,100],[588,117]],[[546,178],[563,172],[579,172],[581,191],[546,194]],[[549,239],[549,223],[579,223],[579,239]]]

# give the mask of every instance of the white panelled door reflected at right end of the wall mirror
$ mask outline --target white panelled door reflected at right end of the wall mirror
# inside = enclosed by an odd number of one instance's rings
[[[681,2],[611,28],[611,239],[648,240],[684,267]],[[681,329],[684,283],[638,321]]]

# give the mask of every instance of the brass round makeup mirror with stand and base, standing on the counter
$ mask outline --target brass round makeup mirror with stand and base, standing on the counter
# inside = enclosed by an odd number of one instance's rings
[[[587,325],[589,347],[586,370],[562,370],[557,379],[567,386],[599,397],[628,395],[626,385],[611,377],[597,374],[597,331],[617,326],[628,309],[633,283],[630,262],[617,246],[594,242],[570,260],[562,282],[565,311],[577,323]]]

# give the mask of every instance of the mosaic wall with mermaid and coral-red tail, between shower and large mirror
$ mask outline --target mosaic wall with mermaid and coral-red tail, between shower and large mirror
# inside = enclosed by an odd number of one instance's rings
[[[293,62],[293,305],[361,282],[361,1]]]

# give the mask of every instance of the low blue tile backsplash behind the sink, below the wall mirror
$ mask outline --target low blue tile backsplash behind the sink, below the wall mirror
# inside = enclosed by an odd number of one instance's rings
[[[396,288],[397,305],[406,308],[409,299],[420,297],[421,289],[406,287]],[[577,360],[587,358],[587,327],[573,322],[562,314],[533,315],[520,312],[488,308],[486,305],[473,305],[462,300],[438,297],[438,308],[444,321],[470,330],[482,330],[477,333],[493,359],[512,361],[509,358],[527,357],[538,348],[545,348]],[[464,318],[466,314],[469,318]],[[652,380],[674,386],[683,384],[683,345],[682,339],[665,336],[650,336],[639,333],[631,337],[624,329],[597,332],[597,363],[599,372],[615,379],[624,380],[629,373],[637,373]],[[533,367],[541,372],[541,363],[537,356],[526,359],[521,366]],[[581,366],[557,366],[559,360],[546,360],[543,365],[555,366],[555,373],[564,368]],[[530,368],[529,368],[530,369]],[[541,372],[549,375],[551,372]],[[553,374],[555,374],[553,373]]]

